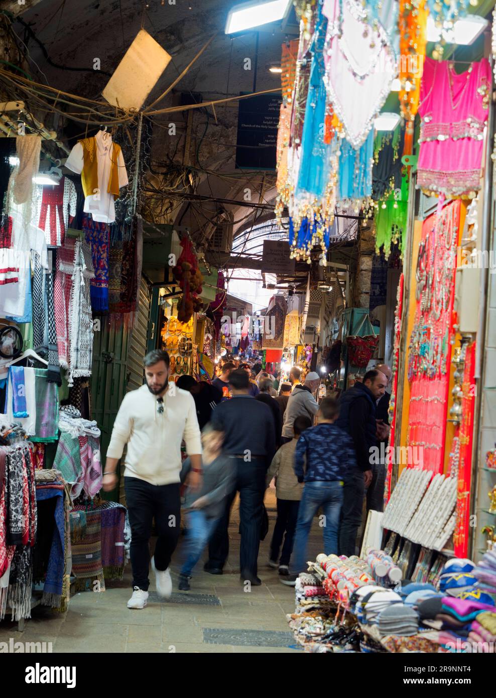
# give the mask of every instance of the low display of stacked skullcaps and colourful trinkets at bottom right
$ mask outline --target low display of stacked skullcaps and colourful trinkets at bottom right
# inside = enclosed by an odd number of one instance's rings
[[[287,621],[311,653],[494,653],[496,554],[405,577],[386,550],[320,554],[296,581]]]

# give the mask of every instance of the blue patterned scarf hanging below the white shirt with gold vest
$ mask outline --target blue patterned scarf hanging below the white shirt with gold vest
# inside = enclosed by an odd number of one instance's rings
[[[82,221],[84,239],[91,247],[94,279],[91,279],[91,307],[97,313],[109,309],[109,248],[110,230],[106,223],[96,223],[91,214],[84,214]]]

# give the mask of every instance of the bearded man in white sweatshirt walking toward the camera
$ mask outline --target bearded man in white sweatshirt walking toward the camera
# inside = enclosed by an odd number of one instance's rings
[[[144,357],[146,385],[124,397],[107,449],[103,489],[108,492],[117,485],[117,463],[128,445],[124,489],[131,526],[130,609],[143,609],[148,601],[148,545],[153,517],[158,538],[151,567],[157,593],[161,597],[172,593],[169,565],[180,533],[183,438],[191,461],[188,486],[197,489],[202,480],[202,442],[195,401],[187,390],[169,383],[169,364],[165,351],[153,350]]]

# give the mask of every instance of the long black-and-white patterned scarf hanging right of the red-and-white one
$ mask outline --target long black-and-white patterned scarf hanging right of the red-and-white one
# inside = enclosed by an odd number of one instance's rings
[[[89,279],[93,270],[88,268],[86,252],[86,244],[77,241],[75,245],[73,296],[70,305],[69,386],[73,385],[74,378],[91,376],[93,318],[91,316]]]

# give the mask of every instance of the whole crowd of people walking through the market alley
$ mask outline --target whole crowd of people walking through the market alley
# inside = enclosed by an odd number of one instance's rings
[[[186,522],[179,589],[188,591],[208,545],[204,570],[223,574],[232,503],[239,494],[240,579],[253,586],[266,513],[264,493],[276,481],[277,519],[269,565],[283,584],[306,569],[308,535],[317,512],[325,554],[356,553],[364,496],[382,510],[385,463],[371,453],[389,436],[389,366],[368,371],[339,401],[317,401],[320,378],[290,370],[287,382],[248,362],[223,360],[212,384],[181,376],[169,382],[167,352],[144,359],[146,384],[123,399],[107,450],[103,488],[123,473],[133,567],[130,609],[148,600],[149,566],[158,595],[172,593],[170,563]],[[274,385],[278,386],[278,391]],[[278,394],[277,394],[278,393]],[[200,431],[201,430],[201,431]],[[181,461],[181,443],[187,457]],[[149,556],[152,523],[156,546]],[[293,549],[294,548],[294,549]]]

